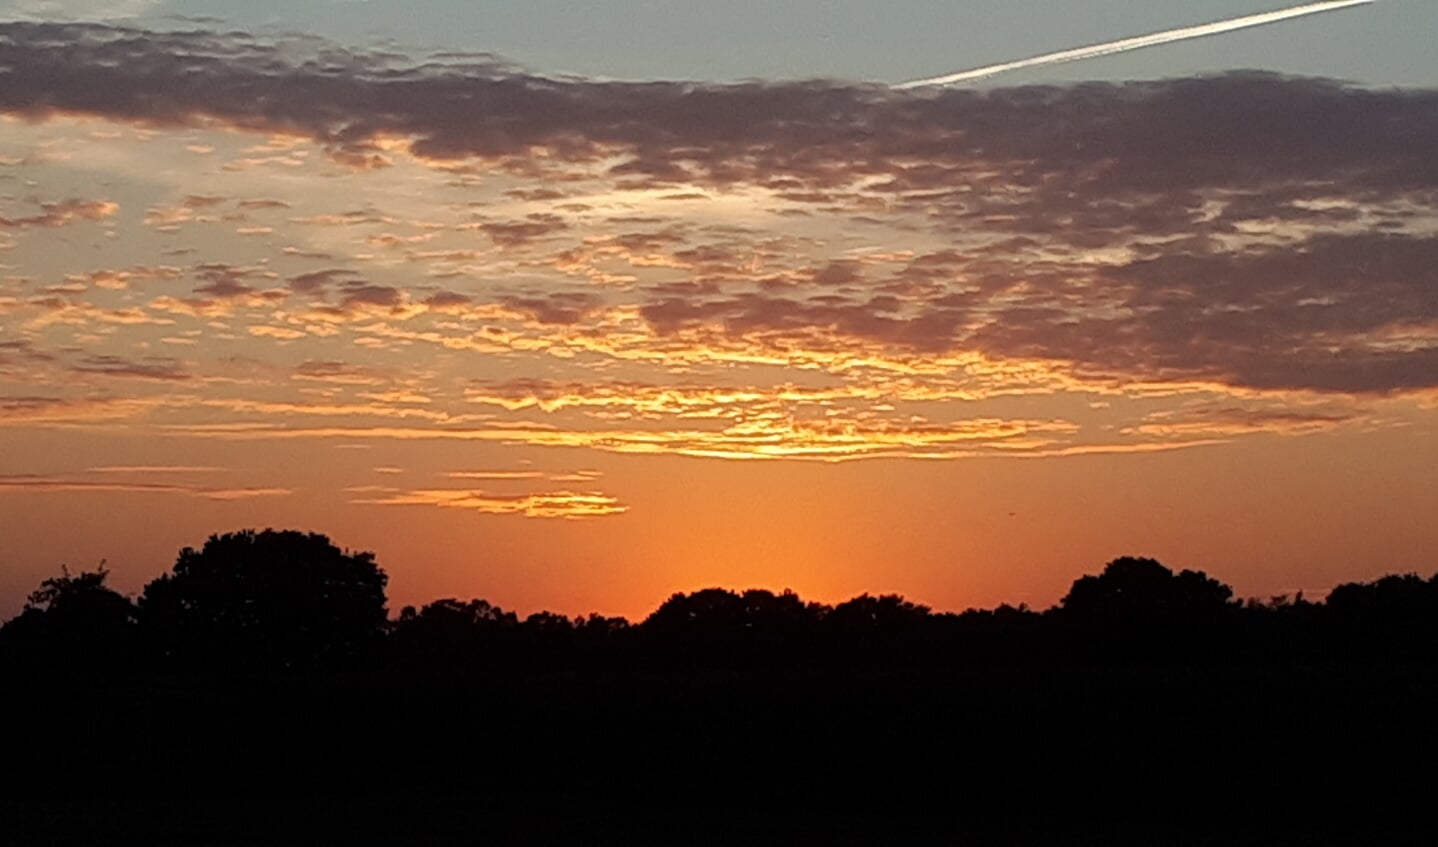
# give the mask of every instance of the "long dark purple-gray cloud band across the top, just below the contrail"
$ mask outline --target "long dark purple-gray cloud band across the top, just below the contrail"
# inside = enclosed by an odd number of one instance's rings
[[[0,109],[158,125],[219,119],[364,155],[380,135],[433,158],[595,161],[650,181],[889,191],[975,178],[1089,196],[1252,190],[1322,174],[1353,190],[1438,188],[1438,93],[1263,73],[900,93],[828,81],[587,82],[493,62],[403,65],[339,47],[308,60],[236,33],[0,26]],[[982,162],[982,168],[975,167]],[[1110,210],[1120,213],[1119,207]]]

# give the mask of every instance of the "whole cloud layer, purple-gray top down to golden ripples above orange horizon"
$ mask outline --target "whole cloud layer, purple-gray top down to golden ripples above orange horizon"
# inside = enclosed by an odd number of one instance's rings
[[[1435,91],[595,82],[9,23],[0,115],[6,427],[1037,457],[1438,397]],[[492,473],[348,502],[624,512]]]

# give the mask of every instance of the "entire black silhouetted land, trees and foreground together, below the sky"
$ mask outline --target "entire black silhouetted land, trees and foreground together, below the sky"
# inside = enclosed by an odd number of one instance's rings
[[[1045,611],[387,620],[371,554],[244,531],[138,605],[105,581],[0,628],[7,844],[1432,840],[1438,577],[1235,603],[1126,557]]]

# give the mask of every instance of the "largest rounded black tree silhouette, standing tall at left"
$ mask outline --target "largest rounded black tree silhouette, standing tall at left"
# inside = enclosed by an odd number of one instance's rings
[[[344,552],[318,534],[246,529],[180,551],[139,608],[170,657],[302,667],[374,646],[385,582],[374,554]]]

